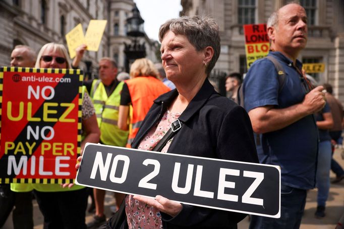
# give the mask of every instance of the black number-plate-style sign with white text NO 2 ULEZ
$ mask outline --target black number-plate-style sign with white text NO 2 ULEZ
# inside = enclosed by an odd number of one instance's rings
[[[76,184],[190,205],[280,216],[280,169],[88,143]]]

